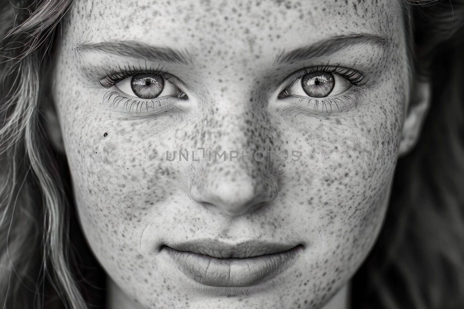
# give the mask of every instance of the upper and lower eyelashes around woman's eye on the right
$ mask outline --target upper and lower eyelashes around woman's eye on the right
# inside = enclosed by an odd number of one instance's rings
[[[312,67],[301,69],[297,71],[296,73],[293,73],[289,78],[287,78],[287,79],[293,80],[293,82],[287,87],[285,87],[283,91],[281,91],[278,98],[284,99],[286,97],[291,97],[288,95],[288,90],[290,89],[290,87],[292,87],[304,75],[308,73],[312,73],[312,72],[318,72],[318,71],[338,74],[346,78],[349,81],[349,83],[351,83],[355,87],[362,87],[369,80],[361,72],[356,71],[354,69],[342,67],[340,66],[340,64],[337,64],[335,66],[317,65],[317,66],[312,66]],[[361,96],[361,92],[356,89],[350,90],[350,93],[353,95]],[[303,105],[303,102],[304,102],[304,105],[306,106],[309,106],[311,103],[313,103],[313,108],[312,108],[313,112],[318,112],[318,111],[324,112],[324,107],[325,107],[326,113],[334,113],[337,111],[342,112],[343,107],[346,110],[351,109],[352,107],[355,107],[357,105],[356,101],[357,101],[356,98],[352,97],[349,93],[342,93],[338,95],[337,97],[321,97],[321,98],[302,97],[300,98],[300,105]],[[321,106],[322,106],[322,110],[320,109]],[[307,109],[305,107],[300,107],[300,106],[298,108]]]

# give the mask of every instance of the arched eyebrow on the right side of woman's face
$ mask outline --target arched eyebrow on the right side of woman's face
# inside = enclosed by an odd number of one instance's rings
[[[340,49],[357,44],[370,44],[386,47],[389,43],[390,42],[387,38],[371,33],[336,36],[318,41],[312,45],[296,48],[290,52],[285,52],[285,50],[283,50],[277,55],[274,64],[291,64],[296,61],[307,60],[309,58],[327,56]]]

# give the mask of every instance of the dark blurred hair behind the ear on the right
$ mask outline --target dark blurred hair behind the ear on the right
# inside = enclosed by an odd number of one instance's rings
[[[384,226],[353,280],[353,308],[464,306],[464,1],[412,8],[415,78],[432,102],[400,158]]]

